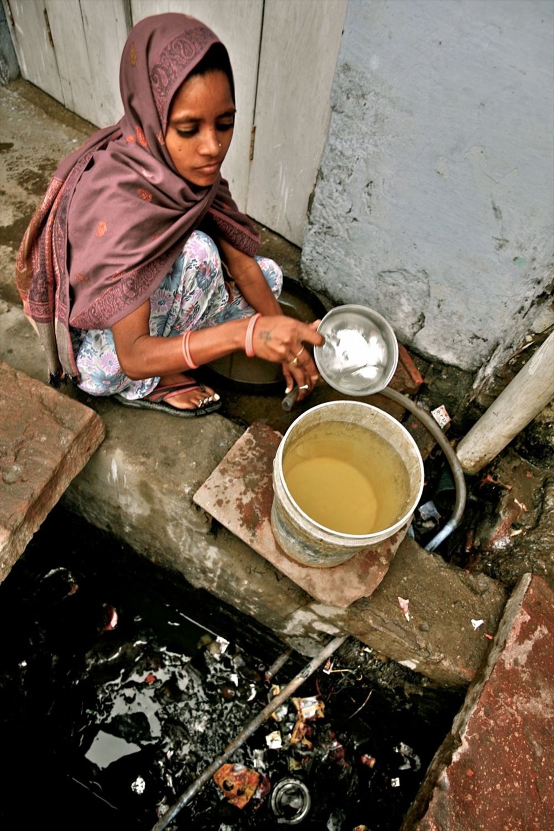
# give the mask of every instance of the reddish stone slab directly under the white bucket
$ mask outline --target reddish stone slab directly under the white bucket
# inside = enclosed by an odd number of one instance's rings
[[[385,577],[398,535],[333,568],[313,568],[287,557],[273,537],[270,520],[272,466],[281,440],[271,427],[253,424],[197,490],[194,502],[311,597],[328,606],[350,606],[368,597]]]

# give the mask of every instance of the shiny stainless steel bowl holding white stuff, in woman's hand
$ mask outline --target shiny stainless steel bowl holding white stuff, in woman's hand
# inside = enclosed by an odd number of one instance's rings
[[[337,306],[317,331],[325,337],[314,348],[321,377],[346,396],[370,396],[389,384],[398,363],[398,342],[390,323],[365,306]]]

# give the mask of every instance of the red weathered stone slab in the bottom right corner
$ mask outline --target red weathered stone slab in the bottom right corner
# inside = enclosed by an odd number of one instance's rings
[[[545,831],[554,818],[554,593],[524,575],[402,831]]]

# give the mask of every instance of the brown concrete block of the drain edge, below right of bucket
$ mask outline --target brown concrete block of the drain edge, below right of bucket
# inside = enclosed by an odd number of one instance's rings
[[[399,597],[409,601],[409,620]],[[468,574],[405,537],[379,588],[348,610],[352,635],[445,686],[464,686],[478,671],[506,603],[502,586]],[[472,620],[483,620],[473,630]]]

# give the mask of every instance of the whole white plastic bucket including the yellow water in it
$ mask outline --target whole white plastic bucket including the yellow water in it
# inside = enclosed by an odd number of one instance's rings
[[[397,548],[423,481],[418,447],[395,418],[361,401],[319,404],[277,448],[273,535],[287,556],[315,568],[380,543]]]

